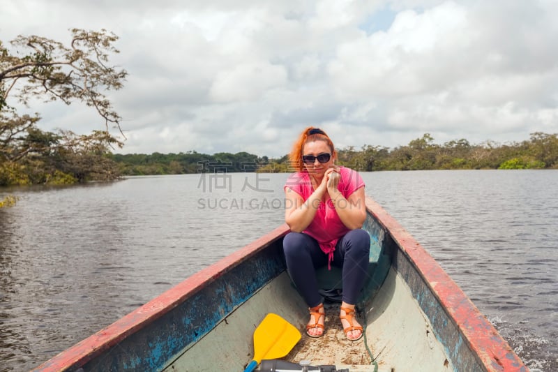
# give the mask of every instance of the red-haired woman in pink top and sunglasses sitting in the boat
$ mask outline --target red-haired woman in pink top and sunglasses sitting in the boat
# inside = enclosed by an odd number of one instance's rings
[[[296,173],[285,184],[283,241],[287,269],[309,306],[310,337],[324,334],[324,298],[315,269],[342,268],[340,320],[349,341],[362,337],[354,305],[368,274],[370,235],[361,229],[366,217],[364,182],[354,170],[336,166],[337,152],[324,131],[308,127],[289,155]]]

